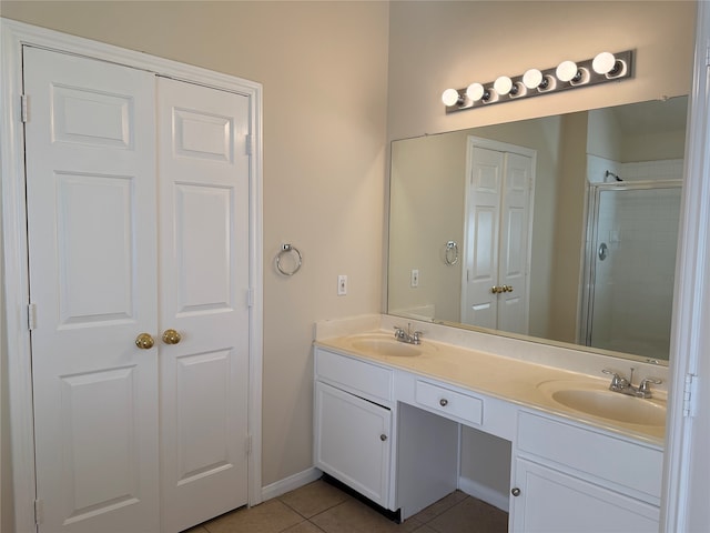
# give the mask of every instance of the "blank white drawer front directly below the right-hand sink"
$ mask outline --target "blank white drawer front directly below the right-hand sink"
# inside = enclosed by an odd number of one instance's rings
[[[527,452],[638,491],[637,496],[658,504],[663,453],[660,450],[521,412],[519,452]]]

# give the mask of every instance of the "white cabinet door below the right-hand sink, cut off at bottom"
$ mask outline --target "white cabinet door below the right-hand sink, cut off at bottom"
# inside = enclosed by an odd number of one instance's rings
[[[537,463],[515,461],[510,499],[516,533],[658,531],[659,509]]]

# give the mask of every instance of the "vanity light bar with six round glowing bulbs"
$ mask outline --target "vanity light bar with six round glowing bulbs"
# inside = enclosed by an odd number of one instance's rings
[[[601,52],[577,63],[562,61],[551,69],[530,69],[515,78],[501,76],[488,83],[447,89],[442,94],[442,101],[448,114],[628,78],[633,78],[633,50]]]

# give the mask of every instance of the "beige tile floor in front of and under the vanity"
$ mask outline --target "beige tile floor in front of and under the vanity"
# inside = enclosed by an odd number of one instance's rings
[[[397,524],[322,481],[185,533],[506,533],[508,514],[456,491]]]

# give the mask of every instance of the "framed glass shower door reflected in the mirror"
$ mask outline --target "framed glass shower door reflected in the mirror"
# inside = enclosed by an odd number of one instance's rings
[[[680,180],[590,184],[581,341],[668,360]]]

